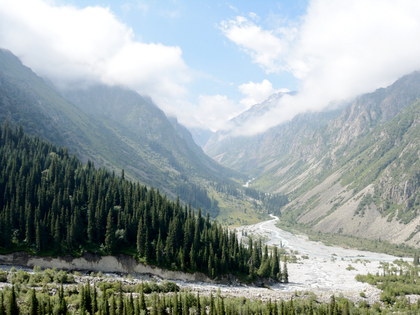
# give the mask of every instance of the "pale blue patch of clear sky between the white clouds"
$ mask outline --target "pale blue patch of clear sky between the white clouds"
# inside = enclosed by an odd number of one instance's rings
[[[235,101],[242,97],[240,84],[269,80],[274,88],[296,89],[289,72],[267,73],[230,42],[220,23],[238,15],[255,13],[268,29],[295,22],[305,12],[306,0],[281,1],[60,1],[78,7],[108,7],[131,27],[139,41],[179,46],[186,64],[197,72],[189,85],[193,95],[223,94]]]

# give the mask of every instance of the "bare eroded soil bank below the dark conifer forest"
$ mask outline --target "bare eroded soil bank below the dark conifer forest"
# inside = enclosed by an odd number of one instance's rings
[[[82,257],[40,257],[28,253],[18,252],[8,255],[0,255],[0,265],[14,265],[41,268],[56,268],[64,270],[101,271],[108,273],[150,274],[168,280],[182,281],[211,281],[202,273],[184,273],[179,271],[165,270],[138,263],[133,257],[127,255],[99,256],[85,254]]]

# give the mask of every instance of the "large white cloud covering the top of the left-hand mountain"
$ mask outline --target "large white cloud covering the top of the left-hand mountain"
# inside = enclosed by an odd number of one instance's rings
[[[186,94],[190,80],[179,47],[136,41],[131,28],[99,6],[0,1],[0,47],[55,82],[123,84],[163,108]]]

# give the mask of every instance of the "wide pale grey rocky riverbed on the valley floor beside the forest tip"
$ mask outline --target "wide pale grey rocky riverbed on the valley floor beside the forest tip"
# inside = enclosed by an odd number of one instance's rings
[[[356,275],[381,272],[383,263],[401,259],[381,253],[326,246],[306,236],[279,229],[276,226],[278,220],[272,216],[271,220],[237,229],[240,236],[261,236],[266,244],[284,248],[297,258],[295,263],[288,264],[290,283],[273,285],[270,293],[264,292],[262,295],[288,297],[312,292],[322,300],[328,300],[335,294],[353,301],[374,302],[379,299],[380,291],[356,281]]]

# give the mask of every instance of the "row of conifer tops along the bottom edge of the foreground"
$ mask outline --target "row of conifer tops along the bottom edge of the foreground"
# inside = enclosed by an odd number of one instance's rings
[[[199,293],[125,292],[104,289],[86,283],[64,289],[61,285],[51,295],[45,287],[41,290],[11,287],[0,291],[0,315],[348,315],[348,314],[418,314],[420,301],[384,306],[380,303],[358,304],[342,297],[331,296],[329,302],[315,298],[289,300],[251,300],[245,297],[224,297],[217,293],[200,296]]]

